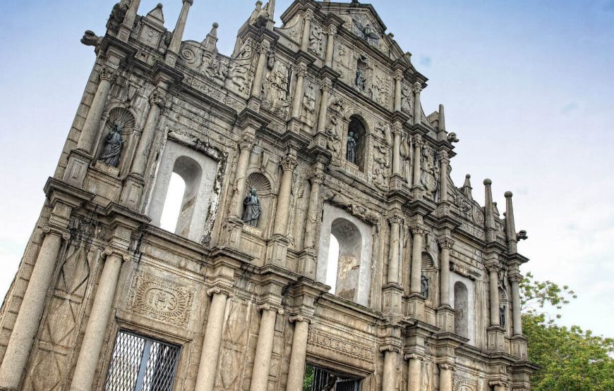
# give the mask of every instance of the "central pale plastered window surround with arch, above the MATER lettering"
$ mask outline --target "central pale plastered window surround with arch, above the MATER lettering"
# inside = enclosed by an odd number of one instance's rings
[[[331,237],[339,243],[337,254],[330,253]],[[331,293],[368,306],[372,251],[371,225],[344,209],[324,204],[315,271],[315,279],[319,283],[327,283],[327,275],[330,282],[330,269],[337,267],[332,277],[335,278],[335,290],[331,290]]]

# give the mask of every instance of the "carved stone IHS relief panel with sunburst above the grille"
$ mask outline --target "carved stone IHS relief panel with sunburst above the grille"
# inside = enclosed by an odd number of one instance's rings
[[[137,314],[174,325],[188,323],[193,289],[181,287],[149,273],[135,275],[128,303]]]

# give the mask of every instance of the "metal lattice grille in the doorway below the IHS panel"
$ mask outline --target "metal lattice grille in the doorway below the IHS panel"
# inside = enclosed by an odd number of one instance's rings
[[[104,390],[171,391],[178,358],[179,347],[120,331]]]

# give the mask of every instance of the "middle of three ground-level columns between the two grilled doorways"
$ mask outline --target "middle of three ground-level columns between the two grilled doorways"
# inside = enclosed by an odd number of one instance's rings
[[[273,337],[275,336],[277,310],[269,304],[260,306],[260,309],[263,311],[263,315],[260,319],[260,330],[258,330],[258,344],[256,345],[250,391],[267,391]],[[283,311],[279,311],[283,314]]]

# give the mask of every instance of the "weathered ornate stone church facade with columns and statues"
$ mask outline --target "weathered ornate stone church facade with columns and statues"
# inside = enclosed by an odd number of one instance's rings
[[[490,180],[486,206],[452,183],[458,139],[372,6],[297,0],[274,27],[258,2],[226,56],[217,24],[182,41],[192,0],[172,31],[139,3],[83,37],[95,66],[1,308],[0,389],[102,390],[129,332],[178,352],[158,390],[299,391],[306,364],[363,391],[529,390],[512,194],[502,218]]]

